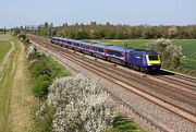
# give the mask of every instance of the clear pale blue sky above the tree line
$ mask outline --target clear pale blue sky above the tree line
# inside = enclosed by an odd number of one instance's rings
[[[196,0],[0,0],[0,27],[52,22],[127,25],[196,24]]]

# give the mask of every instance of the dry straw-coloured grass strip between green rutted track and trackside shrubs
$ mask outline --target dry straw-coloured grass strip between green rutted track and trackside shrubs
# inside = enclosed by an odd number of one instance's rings
[[[30,89],[25,47],[20,41],[20,53],[12,85],[9,111],[9,128],[13,132],[26,132],[33,124],[32,112],[35,99]]]

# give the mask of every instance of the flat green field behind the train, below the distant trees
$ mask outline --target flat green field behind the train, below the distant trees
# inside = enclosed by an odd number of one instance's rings
[[[146,49],[146,44],[151,40],[152,39],[97,39],[93,41]],[[172,39],[172,41],[174,45],[182,46],[183,53],[186,56],[183,63],[186,67],[196,70],[196,39]]]

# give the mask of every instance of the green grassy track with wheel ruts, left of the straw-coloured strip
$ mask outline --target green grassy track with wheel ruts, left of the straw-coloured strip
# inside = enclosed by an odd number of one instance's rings
[[[0,132],[10,130],[10,128],[8,127],[9,101],[15,72],[15,63],[20,50],[19,45],[14,46],[15,49],[8,58],[8,62],[5,63],[3,73],[1,73],[2,80],[0,80]]]

